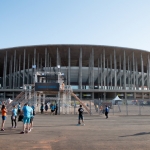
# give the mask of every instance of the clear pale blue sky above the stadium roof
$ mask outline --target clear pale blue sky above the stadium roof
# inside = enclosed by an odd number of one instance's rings
[[[0,49],[41,44],[150,51],[150,0],[0,0]]]

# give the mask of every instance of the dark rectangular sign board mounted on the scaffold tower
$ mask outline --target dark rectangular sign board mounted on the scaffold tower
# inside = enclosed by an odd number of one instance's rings
[[[59,83],[35,83],[35,91],[59,91]]]

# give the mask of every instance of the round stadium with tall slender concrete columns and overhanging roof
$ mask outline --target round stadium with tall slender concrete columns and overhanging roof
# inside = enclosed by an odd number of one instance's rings
[[[150,52],[99,45],[37,45],[0,49],[0,98],[14,99],[34,72],[61,72],[82,100],[150,99]],[[53,82],[47,80],[46,82]]]

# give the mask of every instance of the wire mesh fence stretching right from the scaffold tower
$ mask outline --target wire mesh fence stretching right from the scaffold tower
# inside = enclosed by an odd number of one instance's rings
[[[111,115],[150,115],[150,100],[122,100],[122,103],[112,105],[110,100],[84,100],[82,101],[91,112],[91,115],[103,115],[105,105],[109,107]],[[78,114],[79,103],[71,101],[70,112]]]

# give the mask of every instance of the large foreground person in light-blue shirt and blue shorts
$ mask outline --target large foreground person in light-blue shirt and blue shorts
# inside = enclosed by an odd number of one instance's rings
[[[27,133],[31,131],[29,127],[30,127],[31,114],[33,114],[33,109],[30,106],[28,106],[28,104],[26,103],[22,109],[22,112],[23,112],[23,131],[20,133],[24,134],[25,129],[27,129],[26,131]]]

